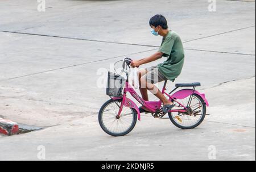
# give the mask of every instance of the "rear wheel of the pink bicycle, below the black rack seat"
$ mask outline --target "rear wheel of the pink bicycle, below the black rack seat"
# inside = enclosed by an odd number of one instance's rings
[[[190,97],[190,96],[189,96]],[[179,100],[180,103],[186,105],[188,104],[189,97]],[[181,109],[180,105],[177,105],[177,103],[174,103],[176,106],[172,108],[172,110],[175,109]],[[172,123],[181,129],[192,129],[200,125],[206,114],[206,106],[204,100],[197,94],[192,95],[192,101],[191,106],[189,106],[190,110],[193,112],[193,114],[181,114],[179,112],[168,112],[169,118],[172,121]]]

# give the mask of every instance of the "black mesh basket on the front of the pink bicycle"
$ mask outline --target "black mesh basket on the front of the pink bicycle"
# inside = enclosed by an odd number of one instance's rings
[[[111,97],[121,97],[125,82],[126,82],[125,78],[123,78],[121,75],[108,72],[108,83],[106,87],[106,94]]]

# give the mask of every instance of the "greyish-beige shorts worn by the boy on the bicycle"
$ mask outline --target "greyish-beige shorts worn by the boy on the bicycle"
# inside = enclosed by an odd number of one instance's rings
[[[158,82],[168,80],[166,77],[164,77],[162,73],[160,73],[157,66],[146,68],[146,70],[147,70],[147,73],[146,73],[147,82],[158,83]]]

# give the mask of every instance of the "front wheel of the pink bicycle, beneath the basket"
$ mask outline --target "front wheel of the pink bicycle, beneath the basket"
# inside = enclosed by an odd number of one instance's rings
[[[117,118],[122,100],[108,100],[98,113],[98,121],[103,131],[111,136],[124,136],[133,130],[137,122],[137,112],[133,108],[123,106]]]

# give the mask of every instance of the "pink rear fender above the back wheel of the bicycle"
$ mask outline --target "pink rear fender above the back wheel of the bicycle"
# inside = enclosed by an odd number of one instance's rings
[[[209,106],[208,100],[207,98],[205,98],[205,94],[199,93],[198,91],[194,91],[192,89],[179,90],[176,93],[172,94],[171,97],[176,99],[184,99],[193,93],[199,95],[204,100],[206,106]]]

